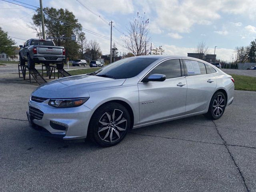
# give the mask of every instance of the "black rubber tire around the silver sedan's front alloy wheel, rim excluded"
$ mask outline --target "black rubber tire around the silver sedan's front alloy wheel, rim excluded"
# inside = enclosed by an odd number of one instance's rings
[[[118,110],[121,110],[123,112],[123,116],[127,120],[126,130],[123,132],[123,134],[122,134],[122,136],[120,137],[119,140],[117,140],[115,142],[112,142],[112,143],[104,142],[104,141],[101,140],[100,136],[98,135],[98,122],[100,121],[100,118],[102,117],[102,115],[105,112],[108,112],[108,111],[113,110],[113,109],[118,109]],[[92,119],[90,120],[90,124],[89,124],[90,137],[94,140],[94,142],[96,142],[100,146],[103,146],[103,147],[114,146],[114,145],[120,143],[124,139],[124,137],[126,136],[127,132],[130,129],[130,122],[131,121],[130,121],[129,112],[124,106],[122,106],[119,103],[115,103],[115,102],[105,104],[105,105],[101,106],[100,108],[98,108],[94,112],[94,114],[92,116]]]

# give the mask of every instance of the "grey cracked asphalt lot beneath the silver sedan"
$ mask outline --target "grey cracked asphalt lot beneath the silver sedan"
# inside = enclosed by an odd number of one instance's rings
[[[29,128],[36,87],[0,76],[0,191],[256,191],[256,92],[235,91],[219,120],[138,128],[101,148]]]

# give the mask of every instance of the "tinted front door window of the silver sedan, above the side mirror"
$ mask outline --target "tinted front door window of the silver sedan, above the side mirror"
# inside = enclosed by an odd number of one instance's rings
[[[150,74],[163,74],[166,79],[181,77],[181,68],[179,59],[170,59],[156,66]]]

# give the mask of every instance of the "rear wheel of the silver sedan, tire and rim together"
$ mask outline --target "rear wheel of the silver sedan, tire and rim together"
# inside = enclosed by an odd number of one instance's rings
[[[208,112],[204,116],[211,120],[221,118],[226,108],[226,96],[222,92],[216,92],[210,101]]]

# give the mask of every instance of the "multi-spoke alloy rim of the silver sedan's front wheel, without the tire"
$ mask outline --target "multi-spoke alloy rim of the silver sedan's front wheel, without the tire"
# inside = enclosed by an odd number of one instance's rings
[[[98,122],[98,135],[104,142],[119,140],[127,128],[127,120],[119,109],[105,112]]]

